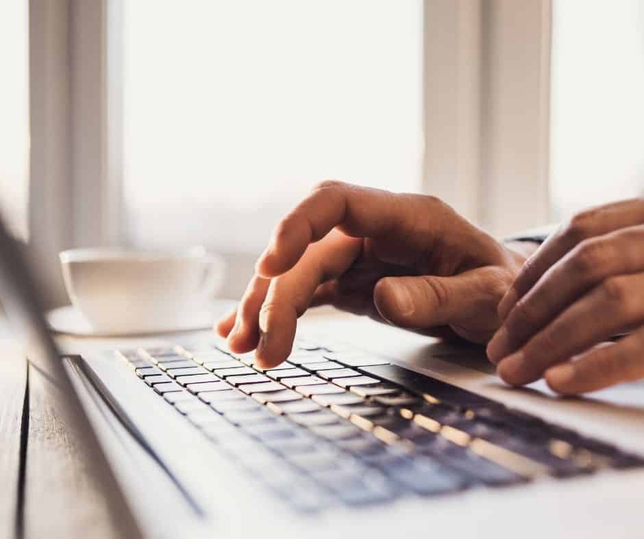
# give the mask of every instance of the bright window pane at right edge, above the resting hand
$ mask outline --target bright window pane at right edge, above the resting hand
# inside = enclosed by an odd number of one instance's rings
[[[554,3],[550,188],[558,219],[644,195],[644,1]]]

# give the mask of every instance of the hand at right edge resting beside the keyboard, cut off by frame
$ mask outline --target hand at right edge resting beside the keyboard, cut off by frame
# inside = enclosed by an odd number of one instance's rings
[[[644,378],[644,199],[576,215],[528,259],[498,312],[487,352],[509,384],[545,377],[579,394]]]

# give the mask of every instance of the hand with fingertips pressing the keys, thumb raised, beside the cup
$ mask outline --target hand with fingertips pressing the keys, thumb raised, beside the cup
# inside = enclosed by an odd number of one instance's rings
[[[236,312],[217,331],[232,352],[256,349],[263,367],[288,357],[297,318],[320,304],[486,343],[527,257],[521,248],[435,197],[326,181],[277,225]]]

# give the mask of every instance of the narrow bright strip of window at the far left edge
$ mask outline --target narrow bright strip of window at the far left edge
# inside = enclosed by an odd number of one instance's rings
[[[0,211],[27,235],[29,189],[29,41],[27,1],[0,5]]]

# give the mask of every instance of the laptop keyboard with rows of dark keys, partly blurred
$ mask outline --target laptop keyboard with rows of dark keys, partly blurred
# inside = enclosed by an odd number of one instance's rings
[[[223,453],[304,512],[644,464],[346,345],[298,340],[274,369],[221,343],[116,354]]]

